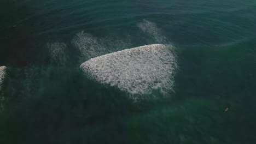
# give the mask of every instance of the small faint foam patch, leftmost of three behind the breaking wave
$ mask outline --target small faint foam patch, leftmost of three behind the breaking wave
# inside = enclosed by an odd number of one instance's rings
[[[53,61],[64,64],[66,62],[66,53],[67,45],[65,43],[52,43],[47,44],[49,49],[50,57]]]

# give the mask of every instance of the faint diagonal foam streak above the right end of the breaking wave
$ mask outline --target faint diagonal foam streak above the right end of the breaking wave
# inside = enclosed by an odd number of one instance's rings
[[[137,26],[145,33],[150,35],[156,43],[166,43],[166,37],[162,36],[161,29],[154,22],[143,20]]]

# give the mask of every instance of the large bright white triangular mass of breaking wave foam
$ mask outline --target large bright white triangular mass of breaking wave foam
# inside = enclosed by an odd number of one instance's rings
[[[161,44],[108,53],[80,66],[90,79],[132,95],[150,94],[154,89],[164,94],[172,90],[177,67],[170,47]]]

